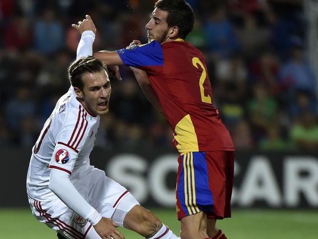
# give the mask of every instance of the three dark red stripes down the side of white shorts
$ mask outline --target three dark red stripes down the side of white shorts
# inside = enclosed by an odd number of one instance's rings
[[[41,202],[34,200],[33,203],[35,209],[40,213],[40,216],[45,217],[46,222],[52,223],[56,225],[60,230],[65,231],[67,234],[72,236],[74,239],[83,239],[83,234],[77,231],[75,228],[69,226],[64,221],[60,220],[59,218],[52,218],[50,214],[45,212],[45,210],[42,209]]]

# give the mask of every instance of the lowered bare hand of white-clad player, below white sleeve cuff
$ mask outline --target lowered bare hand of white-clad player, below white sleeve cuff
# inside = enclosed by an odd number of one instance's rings
[[[125,239],[116,227],[118,225],[111,218],[102,217],[94,229],[102,239]]]

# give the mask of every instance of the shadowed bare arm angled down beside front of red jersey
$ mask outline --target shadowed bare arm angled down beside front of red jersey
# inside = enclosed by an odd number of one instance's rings
[[[136,77],[136,80],[137,80],[141,90],[143,91],[143,93],[145,94],[145,96],[147,97],[149,102],[155,107],[156,110],[158,110],[160,113],[162,113],[162,109],[161,109],[161,105],[159,103],[158,96],[157,96],[156,92],[154,91],[154,89],[152,88],[146,72],[143,72],[143,71],[136,69],[136,68],[133,68],[133,67],[131,67],[131,69]]]

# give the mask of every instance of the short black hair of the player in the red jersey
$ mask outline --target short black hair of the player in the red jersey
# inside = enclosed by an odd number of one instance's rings
[[[179,36],[182,39],[192,31],[194,24],[194,13],[189,3],[185,0],[158,0],[155,8],[167,11],[168,27],[178,26]]]

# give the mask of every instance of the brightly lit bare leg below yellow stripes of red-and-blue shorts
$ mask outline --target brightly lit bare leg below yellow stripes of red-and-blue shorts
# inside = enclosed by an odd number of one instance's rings
[[[182,217],[180,222],[182,239],[207,238],[207,215],[204,212]]]

